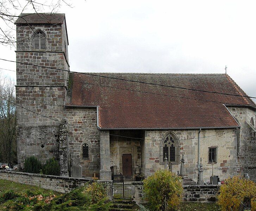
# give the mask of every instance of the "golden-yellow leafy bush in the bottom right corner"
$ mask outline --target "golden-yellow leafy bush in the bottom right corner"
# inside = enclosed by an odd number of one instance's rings
[[[218,204],[221,211],[239,211],[245,197],[251,199],[252,211],[256,211],[256,184],[240,176],[225,180],[220,186]]]

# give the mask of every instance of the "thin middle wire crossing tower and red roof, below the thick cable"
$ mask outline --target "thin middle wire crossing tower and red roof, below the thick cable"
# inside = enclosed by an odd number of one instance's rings
[[[63,80],[63,81],[68,81],[67,79],[61,79],[61,78],[55,78],[55,77],[51,77],[51,76],[38,75],[38,74],[29,73],[29,72],[24,72],[24,71],[15,71],[15,70],[9,70],[9,69],[4,69],[4,68],[0,68],[0,69],[12,71],[12,72],[21,72],[21,73],[25,73],[25,74],[28,74],[28,75],[42,76],[42,77],[46,77],[46,78],[53,78],[53,79],[59,79],[59,80]],[[136,91],[136,92],[141,92],[141,93],[145,93],[145,94],[154,94],[154,95],[161,95],[161,96],[167,96],[167,97],[178,97],[178,98],[185,98],[185,99],[190,99],[190,100],[198,100],[198,101],[213,102],[213,103],[223,103],[223,104],[228,104],[228,105],[237,105],[237,104],[235,104],[235,103],[227,103],[227,102],[221,102],[221,101],[203,100],[203,99],[192,98],[192,97],[183,97],[183,96],[167,95],[167,94],[160,94],[160,93],[155,93],[155,92],[140,91],[140,90],[135,90],[135,89],[127,89],[127,88],[119,88],[119,87],[112,87],[112,86],[108,86],[108,85],[87,83],[87,82],[81,82],[81,81],[73,81],[73,82],[82,83],[82,84],[88,84],[88,85],[95,85],[95,86],[99,86],[99,87],[107,87],[107,88],[112,88],[112,89],[120,89],[120,90],[127,90],[127,91]]]

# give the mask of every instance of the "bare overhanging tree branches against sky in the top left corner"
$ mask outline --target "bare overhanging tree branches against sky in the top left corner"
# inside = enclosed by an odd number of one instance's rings
[[[57,9],[70,0],[0,0],[0,43],[15,46],[15,20],[21,13],[56,13]],[[43,12],[43,13],[42,13]],[[25,16],[22,17],[25,20]],[[45,17],[47,19],[47,17]]]

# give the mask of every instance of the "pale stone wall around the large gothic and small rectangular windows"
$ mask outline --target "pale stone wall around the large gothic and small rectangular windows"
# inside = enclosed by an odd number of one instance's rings
[[[167,130],[145,131],[145,176],[164,168],[159,162],[161,139]],[[184,173],[194,181],[198,180],[198,130],[171,130],[180,141],[180,152],[184,152]],[[202,138],[210,136],[208,138]],[[208,163],[208,147],[217,146],[217,163],[214,175],[225,179],[237,173],[236,129],[202,129],[200,133],[200,157],[203,165],[203,179],[209,181],[212,165]],[[142,149],[143,150],[143,149]],[[173,172],[180,171],[180,164],[173,165]]]

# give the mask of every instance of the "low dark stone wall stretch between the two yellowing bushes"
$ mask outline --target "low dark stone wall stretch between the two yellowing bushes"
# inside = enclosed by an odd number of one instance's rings
[[[216,202],[220,185],[183,185],[184,202]]]

